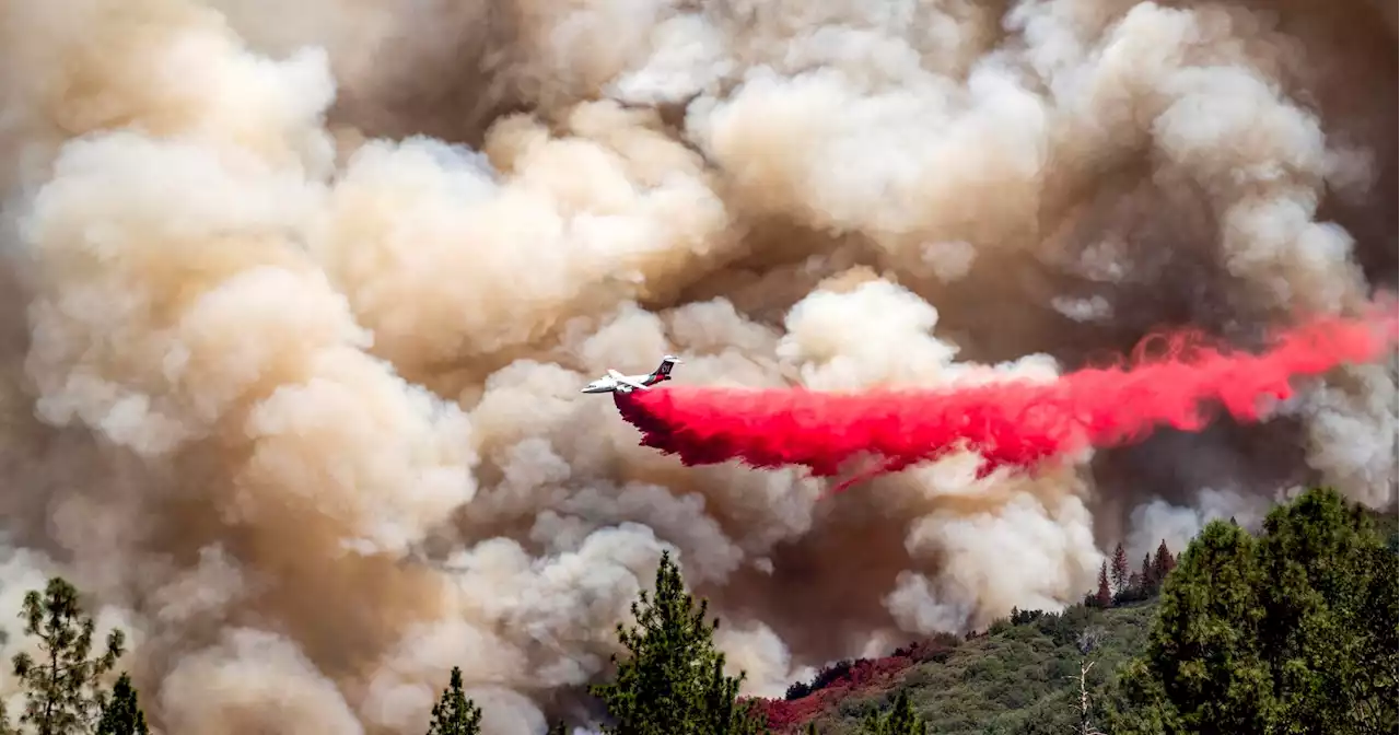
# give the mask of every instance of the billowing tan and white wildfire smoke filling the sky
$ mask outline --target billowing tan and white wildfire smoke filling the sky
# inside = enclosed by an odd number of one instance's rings
[[[1358,316],[1400,274],[1397,50],[1366,0],[0,3],[0,603],[90,591],[164,732],[420,732],[461,665],[524,735],[585,724],[662,549],[771,694],[1303,483],[1390,505],[1386,361],[836,497],[578,389],[668,351],[1049,384]]]

